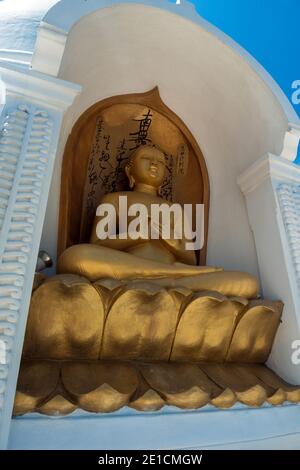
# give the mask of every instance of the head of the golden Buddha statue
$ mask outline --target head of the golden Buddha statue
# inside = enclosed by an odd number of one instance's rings
[[[158,191],[165,179],[165,155],[155,146],[143,145],[132,154],[125,171],[131,188],[142,184]]]

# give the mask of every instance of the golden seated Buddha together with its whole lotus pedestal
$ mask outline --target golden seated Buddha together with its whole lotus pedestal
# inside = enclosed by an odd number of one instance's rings
[[[166,238],[152,211],[145,226],[158,237],[132,237],[121,219],[99,237],[104,204],[121,212],[121,196],[171,206],[159,196],[165,170],[160,150],[140,147],[126,167],[133,190],[106,195],[90,243],[65,250],[59,274],[34,289],[14,414],[299,402],[300,388],[263,365],[283,304],[251,300],[252,276],[197,266],[189,236]]]

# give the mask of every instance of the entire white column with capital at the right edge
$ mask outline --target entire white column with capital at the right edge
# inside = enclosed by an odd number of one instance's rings
[[[263,295],[282,300],[282,324],[269,365],[291,383],[300,383],[292,344],[300,340],[300,167],[267,155],[238,179],[254,234]]]

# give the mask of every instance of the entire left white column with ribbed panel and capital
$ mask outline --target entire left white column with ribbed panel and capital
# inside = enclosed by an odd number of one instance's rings
[[[5,448],[49,187],[64,111],[77,85],[0,66],[0,448]]]

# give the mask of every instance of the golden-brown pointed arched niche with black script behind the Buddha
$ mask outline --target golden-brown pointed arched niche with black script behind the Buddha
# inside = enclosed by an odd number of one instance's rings
[[[209,179],[202,152],[183,121],[162,101],[158,88],[110,97],[87,109],[68,139],[61,176],[58,256],[89,241],[101,198],[128,189],[125,165],[141,145],[157,145],[166,156],[161,196],[180,204],[204,204],[206,262]]]

